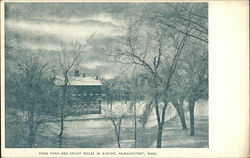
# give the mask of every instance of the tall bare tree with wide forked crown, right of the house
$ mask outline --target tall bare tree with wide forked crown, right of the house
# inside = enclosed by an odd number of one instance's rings
[[[128,67],[136,65],[152,78],[158,124],[157,147],[161,147],[166,110],[172,97],[172,80],[184,46],[190,40],[208,43],[206,4],[176,3],[167,6],[167,11],[155,10],[152,15],[143,15],[140,20],[129,23],[127,36],[118,39],[116,49],[111,53],[119,63]],[[183,102],[187,94],[189,92],[172,100],[183,129],[186,128]]]

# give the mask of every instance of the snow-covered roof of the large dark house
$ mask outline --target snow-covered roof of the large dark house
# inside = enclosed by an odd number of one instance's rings
[[[63,85],[64,78],[63,77],[56,77],[55,79],[56,85]],[[102,82],[95,77],[82,77],[82,76],[70,76],[69,77],[69,85],[74,86],[101,86]]]

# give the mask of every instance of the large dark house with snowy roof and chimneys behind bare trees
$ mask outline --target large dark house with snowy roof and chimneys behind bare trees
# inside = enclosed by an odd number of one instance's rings
[[[62,86],[63,78],[56,77],[55,84]],[[82,76],[78,70],[69,77],[69,106],[71,115],[101,114],[102,83],[98,76]]]

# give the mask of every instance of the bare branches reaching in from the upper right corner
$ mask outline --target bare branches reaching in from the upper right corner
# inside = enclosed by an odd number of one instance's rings
[[[151,16],[167,28],[185,34],[192,39],[208,43],[208,4],[207,3],[165,3],[167,12],[157,12]],[[190,31],[186,32],[185,27]]]

